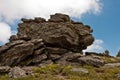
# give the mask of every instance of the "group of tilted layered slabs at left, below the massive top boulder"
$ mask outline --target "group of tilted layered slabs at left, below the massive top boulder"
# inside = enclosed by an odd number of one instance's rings
[[[33,39],[27,42],[17,40],[7,43],[0,48],[0,65],[28,65],[32,62],[32,58],[35,58],[34,56],[39,55],[35,55],[35,51],[40,50],[43,45],[42,39]],[[25,62],[30,56],[32,56],[31,60]],[[23,62],[25,63],[23,64]]]

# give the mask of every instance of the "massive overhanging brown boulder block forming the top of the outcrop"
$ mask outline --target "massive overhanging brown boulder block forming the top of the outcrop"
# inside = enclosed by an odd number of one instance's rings
[[[18,38],[42,38],[47,46],[66,48],[75,52],[86,49],[94,41],[92,29],[81,23],[71,22],[68,15],[51,15],[47,22],[36,23],[35,20],[22,19],[18,27]]]

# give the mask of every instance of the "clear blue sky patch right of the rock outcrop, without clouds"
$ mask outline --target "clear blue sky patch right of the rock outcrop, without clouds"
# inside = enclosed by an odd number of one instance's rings
[[[80,21],[91,25],[96,39],[104,41],[104,49],[116,55],[120,49],[120,0],[102,0],[103,8],[99,15],[84,15]]]

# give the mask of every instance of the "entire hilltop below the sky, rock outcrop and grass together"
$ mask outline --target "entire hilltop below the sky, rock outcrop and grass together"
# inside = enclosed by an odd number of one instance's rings
[[[1,80],[119,80],[120,58],[82,50],[94,42],[89,25],[56,13],[25,19],[0,46]]]

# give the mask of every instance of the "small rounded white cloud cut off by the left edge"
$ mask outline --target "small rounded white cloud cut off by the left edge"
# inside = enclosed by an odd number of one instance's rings
[[[0,22],[0,42],[7,42],[11,34],[10,26],[4,22]]]

